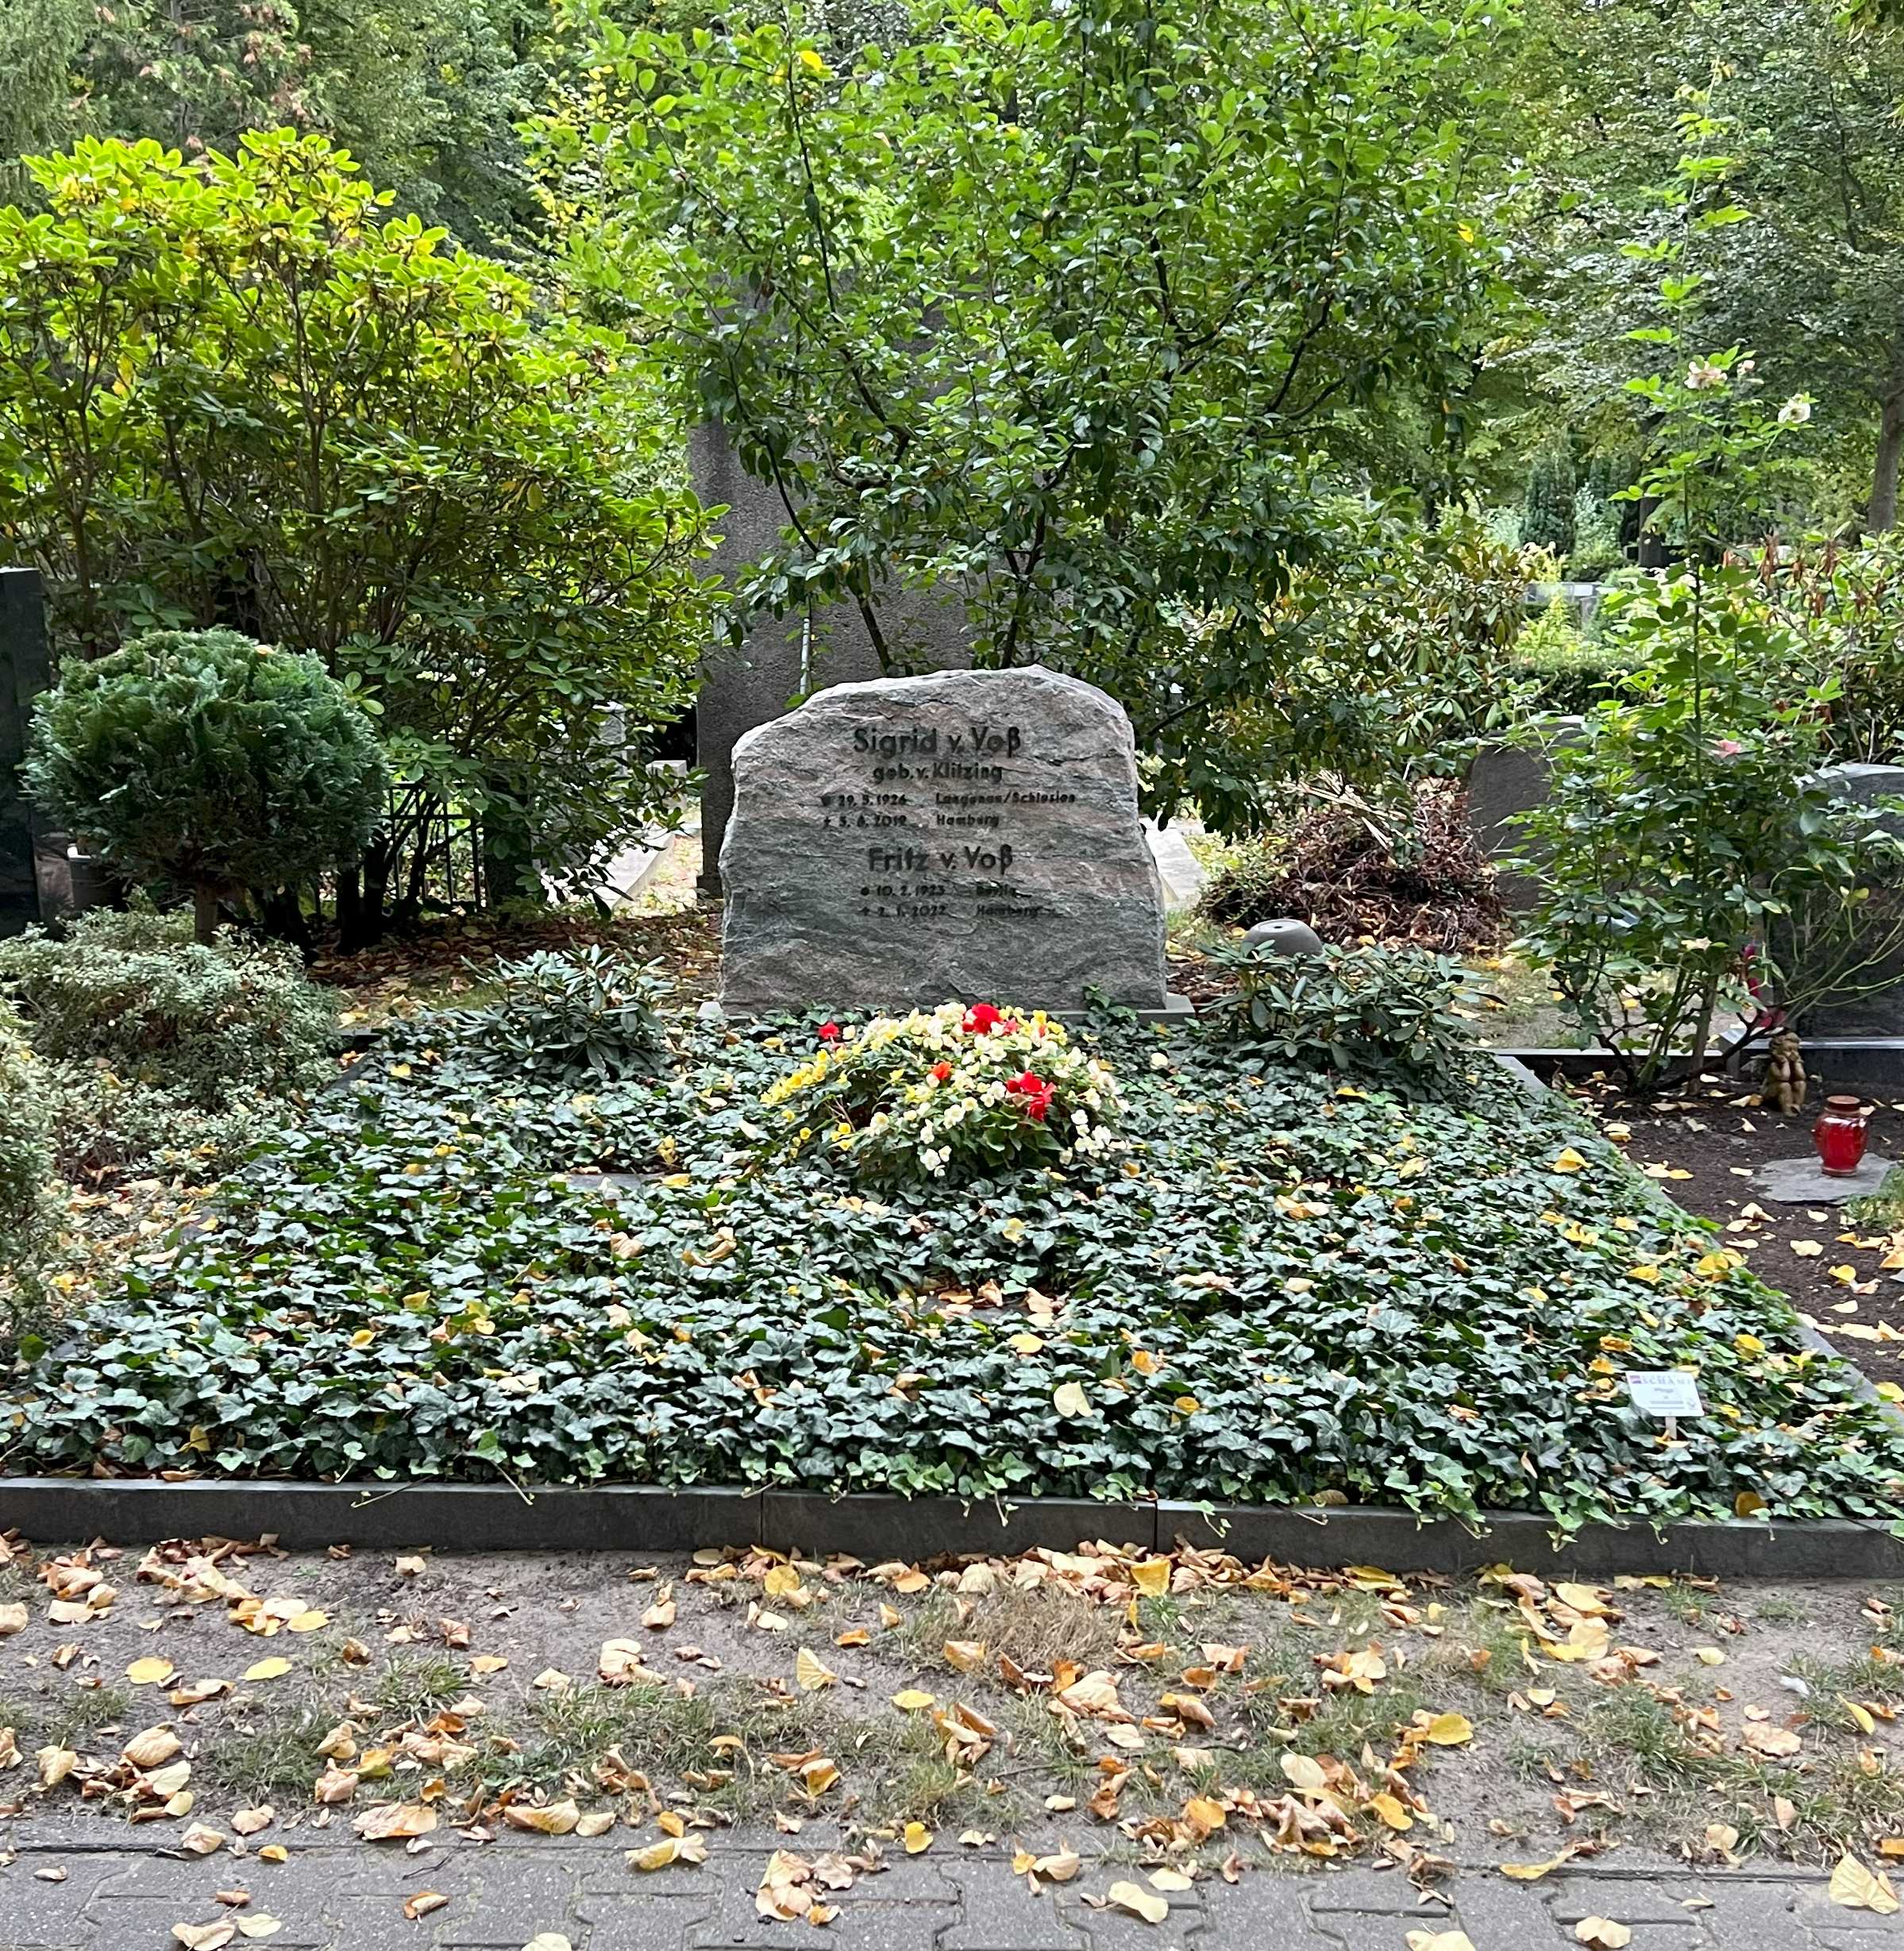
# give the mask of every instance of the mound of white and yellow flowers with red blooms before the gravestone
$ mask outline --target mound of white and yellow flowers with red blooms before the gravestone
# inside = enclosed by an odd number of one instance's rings
[[[1044,1011],[944,1003],[817,1036],[761,1098],[780,1112],[776,1151],[817,1137],[876,1176],[983,1178],[1116,1143],[1116,1079]]]

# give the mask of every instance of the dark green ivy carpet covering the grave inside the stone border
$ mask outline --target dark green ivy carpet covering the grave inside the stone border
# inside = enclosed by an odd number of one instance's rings
[[[833,1026],[825,1026],[833,1034]],[[765,1143],[813,1024],[525,1083],[427,1018],[35,1354],[14,1471],[1883,1516],[1904,1438],[1563,1102],[1079,1034],[1120,1141],[968,1184]],[[431,1040],[435,1034],[435,1042]],[[581,1175],[624,1175],[599,1184]],[[1666,1442],[1627,1370],[1687,1366]]]

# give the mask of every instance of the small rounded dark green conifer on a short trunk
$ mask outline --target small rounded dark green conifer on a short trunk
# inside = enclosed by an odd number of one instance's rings
[[[154,630],[70,659],[41,698],[27,790],[137,880],[218,901],[355,858],[384,808],[371,722],[316,657],[236,630]]]

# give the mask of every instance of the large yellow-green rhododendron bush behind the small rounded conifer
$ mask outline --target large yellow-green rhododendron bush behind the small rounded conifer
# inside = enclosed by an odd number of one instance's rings
[[[449,816],[527,835],[531,886],[626,845],[704,628],[630,341],[388,219],[318,137],[33,170],[51,207],[0,211],[0,538],[62,644],[224,624],[353,687],[396,790],[351,936],[416,911]]]

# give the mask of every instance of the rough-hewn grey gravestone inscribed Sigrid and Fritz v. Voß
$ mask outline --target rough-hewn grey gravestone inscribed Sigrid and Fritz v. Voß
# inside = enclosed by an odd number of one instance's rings
[[[835,685],[734,747],[722,1003],[1163,1009],[1130,718],[1046,669]]]

